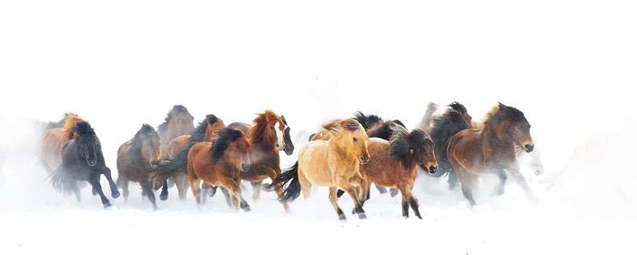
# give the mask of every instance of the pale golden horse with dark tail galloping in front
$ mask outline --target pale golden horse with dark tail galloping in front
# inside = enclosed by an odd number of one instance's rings
[[[367,198],[367,179],[360,173],[360,165],[369,161],[368,136],[355,119],[334,120],[322,126],[329,130],[329,140],[318,139],[301,148],[298,161],[273,182],[284,189],[278,200],[291,202],[302,192],[308,198],[312,185],[329,187],[329,201],[339,215],[346,219],[337,204],[337,189],[345,190],[354,201],[359,219],[367,219],[362,203]],[[358,186],[358,187],[357,187]]]

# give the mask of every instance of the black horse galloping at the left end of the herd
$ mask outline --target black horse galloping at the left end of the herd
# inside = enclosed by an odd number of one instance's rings
[[[104,208],[110,207],[111,203],[106,199],[102,186],[99,184],[100,175],[104,175],[108,180],[113,199],[119,197],[119,191],[111,177],[111,170],[106,167],[95,130],[88,122],[79,121],[71,132],[73,132],[73,138],[66,142],[62,149],[62,163],[49,176],[52,186],[58,191],[64,191],[65,194],[73,192],[77,201],[80,201],[77,181],[86,180],[93,187],[93,195],[99,195]]]

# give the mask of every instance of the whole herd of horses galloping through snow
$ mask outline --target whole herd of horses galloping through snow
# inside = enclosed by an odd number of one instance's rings
[[[100,185],[104,175],[111,197],[129,196],[130,181],[139,183],[142,196],[157,209],[159,199],[168,199],[168,188],[177,187],[178,198],[192,191],[197,206],[214,196],[217,189],[227,204],[250,210],[243,198],[242,181],[252,186],[253,200],[260,192],[274,191],[283,209],[300,194],[308,198],[312,186],[328,187],[329,201],[339,219],[346,219],[338,199],[348,194],[354,201],[352,214],[366,219],[363,205],[374,184],[380,193],[389,188],[392,197],[400,193],[402,215],[409,209],[419,219],[419,203],[412,189],[420,170],[434,178],[447,177],[449,189],[460,186],[471,206],[473,191],[481,175],[500,179],[494,194],[504,193],[512,177],[531,202],[537,199],[521,175],[518,157],[534,148],[531,125],[515,107],[501,103],[491,108],[481,121],[473,121],[466,107],[451,103],[439,115],[430,103],[417,128],[408,130],[399,120],[383,120],[357,112],[354,117],[325,123],[298,151],[297,162],[288,170],[280,166],[279,152],[294,152],[285,117],[271,110],[259,113],[252,123],[225,125],[215,115],[207,115],[197,127],[186,107],[175,106],[158,128],[143,124],[117,150],[117,180],[102,154],[95,130],[82,117],[67,113],[50,122],[42,135],[41,159],[52,186],[80,200],[81,182],[88,182],[105,208],[111,206]],[[535,170],[541,174],[541,170]],[[264,180],[271,182],[264,184]]]

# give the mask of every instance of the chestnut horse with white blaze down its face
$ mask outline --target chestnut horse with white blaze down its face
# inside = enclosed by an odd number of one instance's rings
[[[241,125],[245,127],[244,125]],[[240,126],[239,126],[240,127]],[[238,128],[239,130],[241,128]],[[278,117],[271,110],[258,114],[248,129],[250,142],[250,168],[241,173],[241,179],[247,180],[253,187],[253,199],[259,199],[264,179],[276,179],[281,174],[279,150],[291,155],[294,151],[292,139],[289,138],[288,122],[285,117]],[[267,186],[270,189],[270,186]],[[275,187],[277,194],[283,193],[281,187]],[[288,210],[288,203],[282,201],[283,208]]]

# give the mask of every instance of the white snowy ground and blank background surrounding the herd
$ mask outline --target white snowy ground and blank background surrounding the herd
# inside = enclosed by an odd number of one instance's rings
[[[3,1],[0,3],[0,253],[634,254],[632,164],[637,9],[631,1]],[[271,108],[300,148],[356,110],[415,127],[429,101],[474,119],[501,101],[531,123],[546,172],[469,208],[420,175],[423,219],[379,195],[340,222],[326,189],[283,212],[272,193],[234,212],[133,191],[104,210],[48,186],[35,120],[85,117],[116,175],[116,148],[183,104],[248,122]],[[282,155],[283,166],[293,163]],[[106,182],[105,182],[106,183]],[[106,185],[103,185],[106,187]],[[106,189],[107,190],[107,189]],[[106,192],[107,193],[107,192]],[[351,201],[343,198],[344,209]]]

